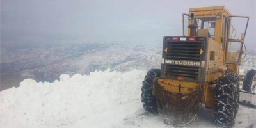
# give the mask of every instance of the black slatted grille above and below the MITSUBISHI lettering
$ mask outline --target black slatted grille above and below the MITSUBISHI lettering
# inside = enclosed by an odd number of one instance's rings
[[[168,42],[166,60],[201,61],[202,42]],[[198,79],[200,67],[187,65],[165,65],[166,76],[184,76]]]

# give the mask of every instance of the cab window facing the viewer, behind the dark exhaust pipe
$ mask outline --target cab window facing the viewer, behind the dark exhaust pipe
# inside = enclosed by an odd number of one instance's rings
[[[215,38],[216,17],[195,18],[195,24],[198,26],[196,33],[198,36],[207,36]]]

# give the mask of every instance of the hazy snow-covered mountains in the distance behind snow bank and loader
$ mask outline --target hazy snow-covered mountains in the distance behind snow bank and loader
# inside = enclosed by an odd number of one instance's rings
[[[19,86],[23,79],[53,82],[61,74],[89,74],[95,70],[160,68],[162,45],[54,44],[1,46],[1,88]],[[248,51],[241,74],[256,68],[256,52]]]

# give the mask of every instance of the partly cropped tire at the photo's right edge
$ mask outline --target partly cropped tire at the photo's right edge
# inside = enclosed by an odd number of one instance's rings
[[[244,76],[243,90],[247,92],[255,92],[255,83],[253,84],[253,78],[256,77],[256,70],[249,70]]]

